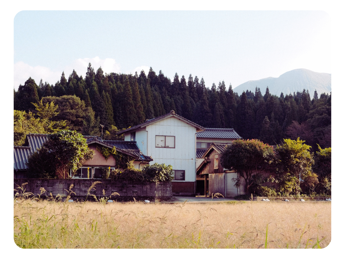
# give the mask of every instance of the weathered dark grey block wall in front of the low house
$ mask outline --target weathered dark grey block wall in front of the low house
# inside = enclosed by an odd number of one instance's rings
[[[73,184],[72,191],[76,194],[72,194],[71,197],[86,197],[89,187],[95,179],[13,179],[13,189],[16,189],[22,183],[28,183],[25,185],[26,192],[32,192],[37,195],[40,193],[40,188],[43,187],[50,195],[50,192],[55,197],[58,194],[67,195],[66,190]],[[114,200],[136,200],[148,199],[169,199],[172,196],[172,185],[171,182],[136,182],[118,180],[112,182],[108,179],[98,180],[101,183],[96,184],[95,189],[91,190],[91,194],[96,195],[97,198],[103,197],[103,189],[105,196],[110,196],[111,193],[117,192],[120,196],[112,196]],[[14,192],[15,194],[16,192]]]

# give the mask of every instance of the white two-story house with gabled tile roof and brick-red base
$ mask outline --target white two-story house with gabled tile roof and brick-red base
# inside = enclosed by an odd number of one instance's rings
[[[205,129],[174,111],[130,127],[118,134],[136,141],[150,164],[171,165],[173,195],[192,196],[196,188],[196,134]]]

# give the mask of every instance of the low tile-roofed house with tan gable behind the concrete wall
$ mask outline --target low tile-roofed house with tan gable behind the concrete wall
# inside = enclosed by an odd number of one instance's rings
[[[90,149],[95,155],[79,168],[73,178],[78,179],[100,179],[104,169],[115,169],[118,167],[115,158],[110,155],[107,159],[99,152],[102,147],[113,148],[116,152],[131,156],[134,159],[134,166],[141,169],[149,164],[152,158],[144,155],[132,141],[105,141],[97,136],[84,136]],[[28,134],[24,146],[13,147],[13,178],[26,178],[28,169],[28,158],[47,141],[47,134]]]

